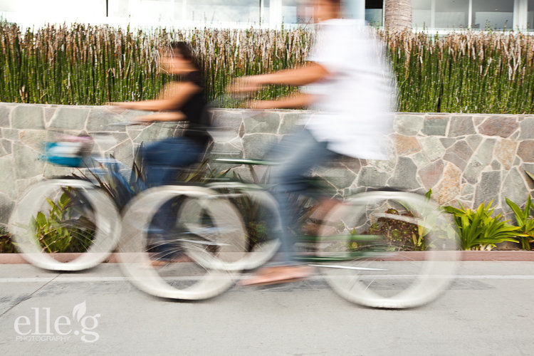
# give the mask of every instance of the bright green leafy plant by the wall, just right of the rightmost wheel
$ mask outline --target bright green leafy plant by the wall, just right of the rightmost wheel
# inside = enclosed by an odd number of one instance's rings
[[[454,217],[454,222],[459,229],[461,248],[464,250],[491,250],[495,244],[504,241],[518,243],[517,238],[524,236],[518,226],[503,221],[503,216],[491,216],[490,201],[488,205],[480,204],[478,209],[471,210],[461,206],[461,209],[453,206],[445,206],[444,210]]]

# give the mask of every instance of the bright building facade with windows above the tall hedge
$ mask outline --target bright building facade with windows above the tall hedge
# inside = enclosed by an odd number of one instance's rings
[[[347,16],[382,26],[384,1],[346,0]],[[278,27],[310,23],[304,0],[0,0],[0,16],[25,26],[85,22],[137,26]],[[534,0],[412,0],[416,29],[534,28]]]

